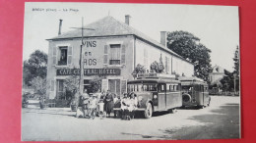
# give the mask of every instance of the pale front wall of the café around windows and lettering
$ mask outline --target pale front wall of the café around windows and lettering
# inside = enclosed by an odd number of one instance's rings
[[[88,41],[93,41],[94,44],[88,44]],[[107,36],[107,37],[92,37],[84,39],[85,46],[83,47],[83,60],[84,62],[91,60],[91,64],[85,64],[84,69],[120,69],[120,75],[105,76],[105,78],[119,78],[119,79],[132,79],[132,71],[134,69],[133,63],[133,49],[134,49],[134,37],[133,36]],[[91,42],[92,43],[92,42]],[[121,44],[125,47],[125,63],[117,66],[112,66],[104,63],[104,47],[110,44]],[[67,76],[58,75],[56,76],[56,70],[58,69],[79,69],[79,59],[80,59],[80,45],[81,39],[71,39],[71,40],[60,40],[60,41],[49,41],[48,49],[48,69],[47,69],[47,81],[51,86],[51,89],[47,91],[47,95],[51,98],[55,97],[56,93],[56,79],[65,79]],[[54,48],[58,46],[69,46],[72,47],[72,60],[67,66],[54,66]],[[91,52],[92,56],[85,56],[85,52]],[[57,52],[57,55],[59,53]],[[94,61],[92,63],[92,61]],[[84,76],[85,79],[94,78],[94,76]],[[54,80],[54,81],[52,81]],[[54,83],[53,83],[54,82]]]

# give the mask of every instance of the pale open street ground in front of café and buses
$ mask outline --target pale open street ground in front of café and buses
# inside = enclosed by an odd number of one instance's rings
[[[23,141],[180,140],[239,138],[240,97],[212,96],[205,109],[155,113],[151,119],[76,119],[67,108],[22,111]],[[113,115],[112,115],[113,117]]]

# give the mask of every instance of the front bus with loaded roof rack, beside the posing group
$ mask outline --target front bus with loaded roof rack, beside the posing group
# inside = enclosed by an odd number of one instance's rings
[[[128,93],[134,92],[138,99],[138,108],[146,119],[154,112],[173,111],[182,106],[180,81],[167,77],[138,77],[127,82]],[[114,111],[120,110],[115,107]]]

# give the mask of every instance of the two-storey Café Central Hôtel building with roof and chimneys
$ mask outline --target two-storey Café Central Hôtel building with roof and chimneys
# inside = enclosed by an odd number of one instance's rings
[[[81,71],[81,90],[88,89],[90,92],[90,80],[99,77],[101,90],[109,89],[110,92],[120,95],[127,91],[127,81],[134,79],[132,72],[138,64],[150,72],[151,64],[159,62],[160,58],[166,74],[194,74],[192,63],[166,48],[165,31],[160,32],[158,42],[129,23],[130,16],[125,16],[125,23],[107,16],[88,24],[84,27],[90,29],[83,30],[82,44],[82,29],[61,33],[60,20],[58,36],[47,39],[47,81],[50,83],[47,97],[63,98],[66,94],[63,86],[65,79],[70,75],[80,75]]]

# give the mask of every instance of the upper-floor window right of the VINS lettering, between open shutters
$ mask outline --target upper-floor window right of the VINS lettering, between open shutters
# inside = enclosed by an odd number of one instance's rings
[[[121,62],[121,45],[110,45],[109,65],[120,65]]]

